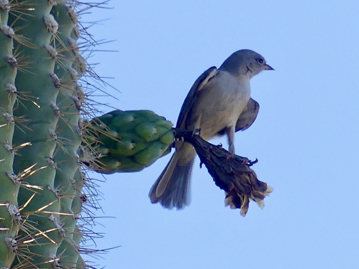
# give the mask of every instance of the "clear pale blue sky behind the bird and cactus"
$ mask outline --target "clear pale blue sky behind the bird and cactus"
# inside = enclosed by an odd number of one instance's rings
[[[106,268],[357,268],[358,1],[111,1],[84,20],[99,75],[120,92],[96,100],[150,109],[176,123],[197,77],[238,49],[252,49],[275,71],[251,81],[256,122],[236,133],[236,153],[274,188],[245,218],[224,207],[224,192],[196,160],[191,205],[151,204],[148,192],[170,156],[139,173],[100,184],[106,232],[95,263]],[[112,109],[102,106],[104,112]],[[213,140],[227,146],[225,138]],[[100,174],[92,177],[103,179]]]

